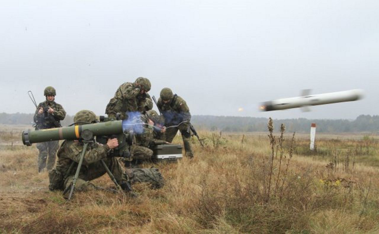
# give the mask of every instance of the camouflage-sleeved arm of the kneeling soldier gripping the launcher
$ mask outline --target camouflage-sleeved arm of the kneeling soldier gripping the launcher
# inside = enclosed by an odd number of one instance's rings
[[[69,151],[69,158],[77,163],[79,163],[81,152],[83,151],[83,145],[78,141],[73,141],[71,144],[67,144]],[[107,144],[93,149],[86,150],[86,153],[83,158],[83,165],[88,165],[95,163],[103,158],[106,158],[106,153],[110,150]]]

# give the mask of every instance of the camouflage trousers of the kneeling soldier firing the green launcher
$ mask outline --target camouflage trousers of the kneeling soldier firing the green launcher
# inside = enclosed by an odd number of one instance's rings
[[[103,161],[105,162],[106,166],[108,166],[114,178],[116,178],[118,184],[126,183],[128,181],[127,175],[124,174],[121,163],[117,158],[109,157],[103,159]],[[69,187],[72,181],[74,180],[76,169],[77,167],[74,167],[74,169],[72,169],[72,171],[70,172],[70,176],[67,177],[66,181],[64,181],[65,189]],[[99,178],[104,174],[106,174],[106,170],[101,161],[91,163],[87,166],[82,165],[80,168],[78,180],[75,184],[75,190],[87,191],[95,189],[96,187],[92,183],[90,183],[90,181]]]

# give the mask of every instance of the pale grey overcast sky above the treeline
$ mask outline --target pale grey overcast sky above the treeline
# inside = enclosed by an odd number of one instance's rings
[[[67,113],[101,115],[139,76],[193,115],[378,115],[379,2],[8,1],[0,8],[0,112],[32,113],[52,85]],[[355,88],[356,102],[259,112],[260,102]],[[243,111],[238,112],[238,108]]]

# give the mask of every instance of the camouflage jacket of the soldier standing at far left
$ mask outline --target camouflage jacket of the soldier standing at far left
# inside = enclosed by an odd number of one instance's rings
[[[53,108],[53,113],[48,113],[47,110],[39,115],[38,111],[41,107],[51,107]],[[47,108],[46,108],[47,109]],[[60,121],[66,117],[66,111],[63,109],[62,105],[56,103],[55,101],[44,101],[38,104],[37,110],[34,113],[34,122],[36,123],[36,129],[51,129],[54,127],[61,127]]]

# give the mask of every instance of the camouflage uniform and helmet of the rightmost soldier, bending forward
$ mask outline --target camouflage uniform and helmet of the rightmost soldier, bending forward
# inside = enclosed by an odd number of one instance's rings
[[[164,103],[162,101],[162,98],[163,100],[168,100],[169,102]],[[182,134],[185,155],[186,157],[192,158],[193,151],[190,142],[191,130],[189,129],[189,125],[187,123],[191,120],[191,113],[189,113],[189,108],[184,99],[180,96],[177,96],[176,94],[173,95],[171,89],[163,88],[160,98],[158,99],[157,106],[164,116],[164,126],[169,127],[165,132],[166,141],[172,142],[179,130]],[[176,125],[179,126],[171,127]]]

